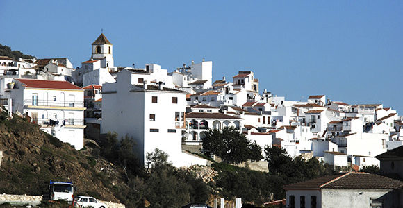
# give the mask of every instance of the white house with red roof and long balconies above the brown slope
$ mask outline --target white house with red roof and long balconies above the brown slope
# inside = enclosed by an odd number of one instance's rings
[[[16,79],[6,89],[13,112],[31,117],[41,130],[77,150],[84,146],[84,90],[67,81]]]

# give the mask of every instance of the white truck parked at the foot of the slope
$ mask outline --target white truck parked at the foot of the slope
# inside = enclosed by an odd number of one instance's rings
[[[50,200],[65,200],[72,202],[74,198],[74,186],[72,182],[50,181],[49,184]]]

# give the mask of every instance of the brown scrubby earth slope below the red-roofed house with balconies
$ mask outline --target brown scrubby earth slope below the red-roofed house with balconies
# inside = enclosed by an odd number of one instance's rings
[[[119,167],[95,159],[91,150],[75,150],[17,115],[8,119],[4,110],[0,150],[0,193],[42,195],[49,180],[65,180],[74,182],[76,193],[119,202],[117,190],[126,189]]]

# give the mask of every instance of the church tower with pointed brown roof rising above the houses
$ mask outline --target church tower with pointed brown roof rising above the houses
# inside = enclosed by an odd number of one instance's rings
[[[93,60],[101,60],[102,68],[113,67],[113,46],[101,33],[97,40],[92,43],[92,56]]]

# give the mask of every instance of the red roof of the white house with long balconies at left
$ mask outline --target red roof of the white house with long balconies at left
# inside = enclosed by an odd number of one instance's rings
[[[44,88],[44,89],[83,89],[67,81],[56,80],[32,80],[32,79],[17,79],[20,83],[29,88]]]

